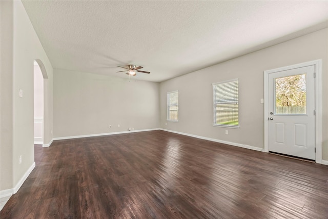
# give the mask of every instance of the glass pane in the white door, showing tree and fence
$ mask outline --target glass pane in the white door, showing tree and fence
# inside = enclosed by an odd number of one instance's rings
[[[276,78],[276,114],[306,114],[305,74]]]

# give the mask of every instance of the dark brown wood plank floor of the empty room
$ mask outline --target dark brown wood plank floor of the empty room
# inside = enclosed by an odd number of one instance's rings
[[[165,131],[35,146],[1,218],[328,218],[328,166]]]

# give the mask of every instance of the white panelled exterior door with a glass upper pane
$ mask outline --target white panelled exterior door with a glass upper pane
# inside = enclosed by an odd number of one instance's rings
[[[315,160],[315,65],[269,74],[269,151]]]

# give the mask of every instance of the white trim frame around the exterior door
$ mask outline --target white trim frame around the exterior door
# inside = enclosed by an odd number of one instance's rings
[[[269,152],[269,74],[294,68],[314,65],[315,67],[315,148],[316,163],[322,164],[322,88],[321,66],[322,60],[285,66],[264,71],[264,152]]]

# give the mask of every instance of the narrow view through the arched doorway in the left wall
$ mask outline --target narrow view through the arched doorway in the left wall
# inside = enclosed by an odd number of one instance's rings
[[[44,77],[34,61],[34,145],[44,143]]]

